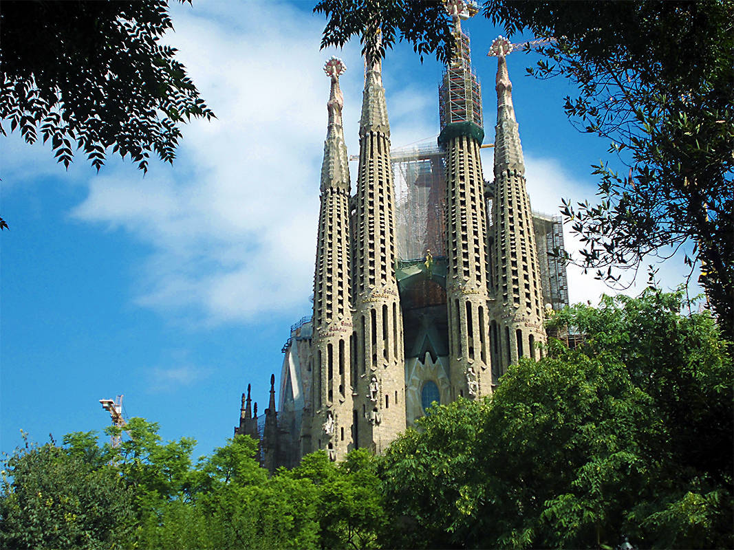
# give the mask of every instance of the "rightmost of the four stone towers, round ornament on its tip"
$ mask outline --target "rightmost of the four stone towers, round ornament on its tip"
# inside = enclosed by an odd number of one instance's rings
[[[495,126],[495,197],[493,200],[493,290],[495,318],[493,354],[501,375],[522,356],[536,357],[536,342],[545,342],[542,289],[525,161],[512,105],[512,82],[506,55],[512,44],[504,37],[492,43],[497,56],[497,125]]]

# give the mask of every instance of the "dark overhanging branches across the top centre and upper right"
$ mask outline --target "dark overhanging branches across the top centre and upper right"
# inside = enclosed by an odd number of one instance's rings
[[[453,39],[439,0],[321,0],[329,18],[322,45],[360,36],[368,56],[413,43],[446,62]],[[487,0],[484,15],[510,35],[556,37],[528,69],[562,75],[578,87],[564,109],[581,131],[611,141],[622,173],[593,166],[599,202],[562,210],[585,243],[580,265],[619,282],[647,254],[688,247],[724,329],[734,331],[734,2],[618,1],[569,3]]]

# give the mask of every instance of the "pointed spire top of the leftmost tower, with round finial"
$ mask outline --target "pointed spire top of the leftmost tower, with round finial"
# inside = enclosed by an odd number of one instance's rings
[[[331,93],[327,109],[329,125],[324,142],[324,162],[321,164],[321,191],[327,188],[341,188],[349,191],[349,158],[344,143],[344,128],[341,110],[344,108],[344,95],[339,88],[339,76],[346,65],[338,57],[332,57],[324,65],[324,72],[331,78]]]

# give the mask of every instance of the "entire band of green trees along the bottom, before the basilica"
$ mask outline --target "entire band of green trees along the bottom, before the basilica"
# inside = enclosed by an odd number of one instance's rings
[[[734,546],[733,365],[680,294],[604,298],[551,320],[551,341],[493,398],[436,406],[385,456],[324,453],[272,477],[236,436],[93,433],[18,450],[0,495],[7,548],[614,548]]]

